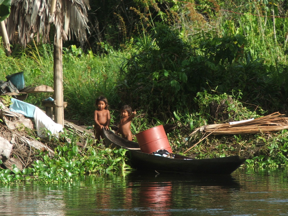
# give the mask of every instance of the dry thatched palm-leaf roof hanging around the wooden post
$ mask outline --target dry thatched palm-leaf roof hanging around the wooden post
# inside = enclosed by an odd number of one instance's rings
[[[59,0],[55,12],[50,15],[49,0],[12,0],[11,13],[7,19],[7,33],[10,41],[26,46],[35,39],[36,43],[49,41],[50,26],[54,24],[61,32],[64,41],[73,38],[86,40],[88,29],[88,0]]]

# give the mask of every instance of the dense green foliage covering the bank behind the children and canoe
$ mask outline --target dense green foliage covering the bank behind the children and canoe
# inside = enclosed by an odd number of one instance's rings
[[[137,110],[133,134],[158,124],[173,149],[199,126],[257,118],[288,103],[287,1],[90,1],[90,33],[84,43],[63,46],[65,119],[93,125],[95,99],[108,98],[111,125],[122,105]],[[51,40],[53,41],[53,39]],[[26,86],[53,86],[53,46],[0,50],[0,80],[24,71]],[[41,107],[51,93],[30,94]],[[188,155],[238,154],[249,166],[287,164],[287,131],[273,135],[211,136]]]

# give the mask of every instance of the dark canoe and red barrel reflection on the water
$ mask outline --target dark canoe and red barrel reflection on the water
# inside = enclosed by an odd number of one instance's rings
[[[175,207],[186,209],[188,205],[190,209],[196,209],[202,202],[199,202],[199,196],[201,199],[205,198],[207,193],[213,194],[216,190],[227,196],[229,193],[239,191],[241,187],[230,175],[156,175],[137,172],[126,176],[126,180],[125,193],[128,205],[123,205],[122,208],[131,209],[137,206],[142,213],[151,212],[153,215],[175,215],[175,211],[171,209]],[[209,202],[219,202],[214,196],[209,199]]]

